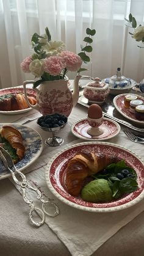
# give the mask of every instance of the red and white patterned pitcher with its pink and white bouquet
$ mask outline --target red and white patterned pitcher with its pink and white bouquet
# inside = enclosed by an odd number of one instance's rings
[[[70,115],[72,108],[76,105],[79,98],[78,84],[81,71],[87,70],[82,68],[82,62],[89,62],[90,57],[86,53],[92,52],[90,45],[95,35],[95,29],[86,29],[87,36],[84,38],[85,46],[81,47],[81,53],[75,54],[65,50],[62,41],[52,41],[48,27],[44,35],[35,33],[32,36],[32,48],[34,53],[26,57],[21,63],[24,72],[32,73],[36,81],[23,82],[24,95],[27,104],[31,108],[37,109],[43,115],[59,113]],[[68,87],[68,71],[77,71],[78,75],[74,78],[73,93]],[[26,85],[34,84],[37,91],[37,104],[32,106],[27,99]],[[38,88],[37,88],[38,86]]]

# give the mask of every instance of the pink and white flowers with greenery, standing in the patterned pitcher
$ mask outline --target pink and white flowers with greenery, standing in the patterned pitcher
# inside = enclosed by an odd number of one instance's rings
[[[62,41],[52,41],[48,27],[44,35],[35,33],[32,36],[32,48],[34,54],[23,60],[21,68],[25,73],[32,73],[35,78],[34,88],[41,82],[64,79],[68,71],[85,71],[81,68],[82,61],[90,62],[90,57],[86,53],[92,52],[90,45],[93,40],[90,36],[95,35],[95,29],[86,29],[87,37],[84,38],[85,47],[82,46],[81,53],[75,54],[65,50]]]

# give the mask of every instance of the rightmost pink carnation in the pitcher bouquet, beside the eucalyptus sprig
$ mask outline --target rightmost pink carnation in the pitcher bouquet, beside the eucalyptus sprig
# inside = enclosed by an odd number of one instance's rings
[[[82,60],[77,54],[73,53],[72,51],[63,51],[59,54],[60,57],[65,60],[67,64],[67,70],[70,71],[77,71],[81,68]]]

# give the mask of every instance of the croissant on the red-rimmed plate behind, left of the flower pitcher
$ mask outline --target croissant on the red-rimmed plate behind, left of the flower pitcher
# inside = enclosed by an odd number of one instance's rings
[[[29,102],[36,104],[36,98],[27,96]],[[3,95],[0,98],[0,110],[1,111],[15,111],[20,109],[29,108],[23,93],[13,93],[12,95]]]

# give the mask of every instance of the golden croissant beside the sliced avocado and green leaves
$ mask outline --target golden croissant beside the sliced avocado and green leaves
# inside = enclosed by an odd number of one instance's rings
[[[68,163],[63,177],[65,188],[72,196],[79,196],[86,177],[117,162],[117,157],[104,153],[77,153]]]

